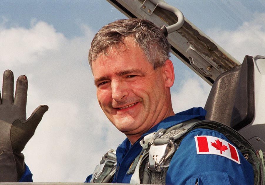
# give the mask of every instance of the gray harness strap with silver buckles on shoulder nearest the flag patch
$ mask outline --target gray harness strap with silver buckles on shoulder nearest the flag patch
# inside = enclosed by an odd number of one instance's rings
[[[169,167],[172,154],[178,147],[175,140],[187,133],[188,129],[197,122],[197,119],[188,120],[167,130],[160,129],[146,135],[140,141],[142,151],[127,171],[127,174],[133,173],[130,183],[165,184],[167,167]]]

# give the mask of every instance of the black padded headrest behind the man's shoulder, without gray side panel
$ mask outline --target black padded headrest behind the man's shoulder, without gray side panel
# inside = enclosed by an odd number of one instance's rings
[[[245,56],[241,65],[224,72],[215,80],[204,107],[206,119],[239,130],[254,118],[254,63]]]

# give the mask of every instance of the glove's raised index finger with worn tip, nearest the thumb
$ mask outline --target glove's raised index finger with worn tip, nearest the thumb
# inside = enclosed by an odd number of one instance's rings
[[[23,113],[26,113],[28,79],[25,75],[18,77],[16,81],[16,93],[14,105],[19,106]]]

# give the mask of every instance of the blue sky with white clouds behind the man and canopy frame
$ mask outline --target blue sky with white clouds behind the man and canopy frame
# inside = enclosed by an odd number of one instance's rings
[[[265,3],[167,0],[240,62],[265,55]],[[126,18],[105,0],[0,0],[0,73],[28,77],[27,117],[46,104],[23,153],[35,182],[83,182],[125,139],[98,105],[88,50],[105,24]],[[175,113],[204,107],[211,86],[172,55]],[[0,77],[2,81],[2,77]]]

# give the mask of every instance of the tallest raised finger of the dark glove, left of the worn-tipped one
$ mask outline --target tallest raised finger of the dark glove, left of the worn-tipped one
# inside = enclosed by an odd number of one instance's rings
[[[14,75],[11,70],[6,70],[3,75],[2,104],[12,104],[14,94]]]

